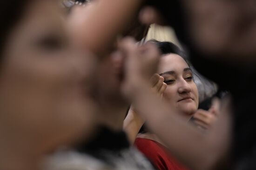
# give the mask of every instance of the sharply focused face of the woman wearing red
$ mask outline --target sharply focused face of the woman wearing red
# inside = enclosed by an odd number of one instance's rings
[[[168,54],[161,57],[158,73],[167,84],[163,97],[172,108],[189,119],[198,108],[197,87],[189,65],[182,57]]]

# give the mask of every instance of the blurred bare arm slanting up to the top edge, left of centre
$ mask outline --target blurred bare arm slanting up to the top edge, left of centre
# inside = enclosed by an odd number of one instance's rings
[[[79,45],[102,56],[136,16],[144,0],[97,0],[74,9],[70,26]]]

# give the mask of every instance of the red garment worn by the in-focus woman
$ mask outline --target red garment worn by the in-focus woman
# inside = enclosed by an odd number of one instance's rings
[[[135,146],[158,170],[188,170],[168,154],[167,148],[154,140],[137,138]]]

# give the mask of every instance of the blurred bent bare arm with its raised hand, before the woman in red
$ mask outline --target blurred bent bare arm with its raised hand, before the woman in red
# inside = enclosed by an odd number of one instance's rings
[[[212,130],[202,134],[182,120],[178,114],[170,114],[170,110],[175,112],[175,108],[169,108],[168,104],[159,100],[150,89],[147,78],[143,77],[147,74],[141,74],[139,68],[152,71],[156,62],[152,56],[156,53],[153,51],[150,53],[151,56],[147,54],[144,57],[133,57],[131,54],[136,54],[136,51],[134,52],[131,40],[123,41],[122,48],[127,52],[130,60],[127,62],[126,75],[128,87],[125,88],[128,91],[125,92],[132,99],[138,113],[147,122],[150,132],[157,134],[171,153],[188,167],[195,170],[208,170],[216,166],[218,161],[228,153],[230,146],[229,110],[222,110],[223,113]]]

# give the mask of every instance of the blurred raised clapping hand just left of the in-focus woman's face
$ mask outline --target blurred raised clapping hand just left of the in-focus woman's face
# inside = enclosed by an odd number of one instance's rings
[[[147,85],[148,88],[157,85],[159,91],[161,86],[158,84],[160,76],[154,76],[157,71],[159,58],[161,56],[159,49],[155,44],[147,43],[141,46],[135,43],[133,38],[123,38],[119,44],[119,50],[125,57],[124,61],[124,81],[122,84],[122,91],[131,98],[135,89],[145,88],[142,84]],[[161,81],[163,82],[162,78]],[[151,86],[151,87],[150,87]]]

